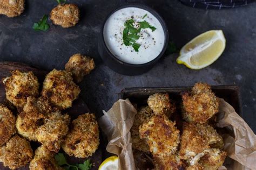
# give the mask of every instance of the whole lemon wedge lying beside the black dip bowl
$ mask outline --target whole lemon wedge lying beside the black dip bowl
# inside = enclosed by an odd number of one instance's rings
[[[182,47],[176,62],[191,69],[201,69],[216,61],[223,53],[225,46],[226,39],[223,31],[207,31]]]

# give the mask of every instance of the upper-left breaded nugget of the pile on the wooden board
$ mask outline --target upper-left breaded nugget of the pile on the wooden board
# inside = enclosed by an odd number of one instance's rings
[[[14,70],[11,74],[10,77],[3,79],[6,98],[18,110],[21,110],[26,104],[27,97],[36,97],[39,94],[39,83],[32,72],[23,73],[19,70]]]

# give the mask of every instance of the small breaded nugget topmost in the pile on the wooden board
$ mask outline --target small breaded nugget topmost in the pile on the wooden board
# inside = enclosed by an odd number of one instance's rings
[[[72,76],[76,82],[81,82],[83,77],[91,72],[95,68],[95,62],[93,59],[82,55],[74,54],[65,65],[65,69],[72,73]]]

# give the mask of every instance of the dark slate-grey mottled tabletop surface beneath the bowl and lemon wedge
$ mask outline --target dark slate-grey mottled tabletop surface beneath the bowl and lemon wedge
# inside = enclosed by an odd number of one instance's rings
[[[221,29],[227,40],[226,49],[216,62],[201,70],[177,65],[178,54],[172,54],[146,74],[123,76],[103,65],[97,53],[100,26],[119,1],[68,2],[78,4],[82,11],[80,22],[70,29],[51,25],[48,32],[32,30],[33,23],[57,5],[54,0],[26,0],[22,16],[0,16],[0,61],[20,61],[51,70],[63,69],[72,54],[92,56],[97,67],[80,87],[82,97],[97,115],[101,115],[103,109],[110,109],[125,87],[193,86],[198,81],[213,85],[237,84],[241,88],[244,119],[256,131],[256,3],[233,10],[206,11],[174,0],[144,1],[163,16],[170,38],[179,48],[200,33]]]

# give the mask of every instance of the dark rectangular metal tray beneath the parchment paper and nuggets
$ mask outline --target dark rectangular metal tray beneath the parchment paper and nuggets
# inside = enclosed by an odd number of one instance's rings
[[[134,87],[125,88],[119,94],[119,98],[129,100],[138,105],[146,104],[147,98],[154,93],[169,93],[170,98],[181,102],[180,93],[191,90],[192,87]],[[223,98],[232,105],[235,111],[242,117],[241,95],[238,86],[212,86],[212,91],[219,98]]]

